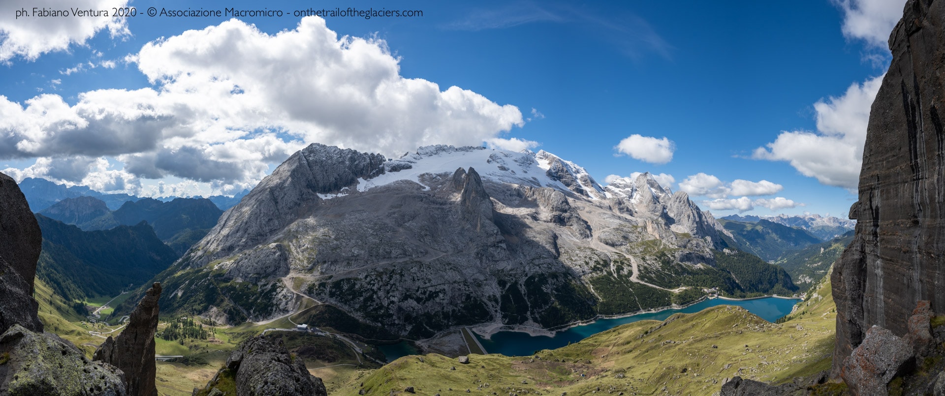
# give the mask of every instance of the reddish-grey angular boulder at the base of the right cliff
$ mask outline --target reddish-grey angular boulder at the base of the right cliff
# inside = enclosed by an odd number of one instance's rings
[[[863,343],[843,361],[840,377],[854,395],[885,395],[886,384],[913,360],[912,347],[899,336],[870,327]]]

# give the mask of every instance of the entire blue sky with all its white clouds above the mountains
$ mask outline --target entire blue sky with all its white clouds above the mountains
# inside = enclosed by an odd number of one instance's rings
[[[199,8],[311,6],[253,3]],[[550,151],[602,183],[662,174],[716,215],[845,217],[903,1],[651,3],[339,2],[319,6],[422,16],[122,21],[15,18],[43,2],[12,0],[0,6],[0,169],[232,194],[312,142],[387,156],[486,144]]]

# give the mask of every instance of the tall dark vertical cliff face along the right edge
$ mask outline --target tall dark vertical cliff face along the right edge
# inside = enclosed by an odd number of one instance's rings
[[[904,336],[913,307],[945,311],[945,2],[909,0],[869,116],[856,236],[833,271],[833,375],[873,325]]]

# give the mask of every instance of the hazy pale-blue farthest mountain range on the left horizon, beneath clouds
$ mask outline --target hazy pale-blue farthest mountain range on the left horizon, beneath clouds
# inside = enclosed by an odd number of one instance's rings
[[[117,210],[121,208],[125,202],[134,202],[141,197],[130,196],[128,194],[106,194],[95,191],[89,187],[82,185],[75,185],[68,187],[64,184],[57,184],[52,181],[47,181],[45,179],[36,179],[36,178],[26,178],[19,183],[20,190],[23,191],[23,194],[26,196],[26,202],[29,203],[29,209],[33,213],[39,213],[54,204],[65,198],[78,198],[78,197],[94,197],[105,202],[105,206],[109,210]],[[227,210],[239,203],[239,200],[244,196],[249,194],[249,190],[243,190],[233,197],[227,196],[213,196],[208,197],[217,208],[220,210]],[[187,198],[187,197],[164,197],[156,198],[161,201],[170,201],[175,198]],[[193,197],[199,198],[199,197]]]

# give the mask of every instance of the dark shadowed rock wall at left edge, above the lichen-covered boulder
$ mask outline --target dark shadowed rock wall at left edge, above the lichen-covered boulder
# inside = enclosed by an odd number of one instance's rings
[[[0,173],[0,332],[19,324],[43,333],[33,300],[33,278],[43,235],[26,198],[9,176]]]

